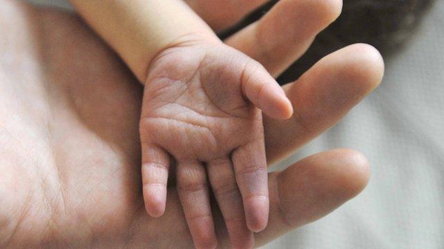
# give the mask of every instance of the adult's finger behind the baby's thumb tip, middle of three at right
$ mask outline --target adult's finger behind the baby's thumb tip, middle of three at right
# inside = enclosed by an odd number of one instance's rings
[[[373,91],[384,61],[370,45],[354,44],[327,55],[284,86],[295,113],[289,120],[264,116],[267,159],[273,163],[323,133]]]

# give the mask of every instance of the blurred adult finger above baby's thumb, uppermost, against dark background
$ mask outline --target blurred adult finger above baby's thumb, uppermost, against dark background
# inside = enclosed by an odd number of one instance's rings
[[[342,0],[280,0],[262,19],[225,43],[256,59],[277,77],[341,13]]]

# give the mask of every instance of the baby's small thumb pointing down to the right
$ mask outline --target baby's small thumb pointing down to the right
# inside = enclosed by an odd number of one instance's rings
[[[255,62],[244,69],[241,77],[243,94],[267,116],[276,119],[289,119],[293,106],[276,80]]]

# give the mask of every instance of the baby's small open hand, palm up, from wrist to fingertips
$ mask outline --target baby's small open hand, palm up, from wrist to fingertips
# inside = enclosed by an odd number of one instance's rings
[[[158,55],[148,72],[140,121],[148,214],[165,210],[172,164],[196,246],[216,245],[207,176],[230,238],[253,240],[250,230],[263,230],[268,222],[269,202],[257,108],[279,119],[293,113],[273,77],[237,50],[181,44]]]

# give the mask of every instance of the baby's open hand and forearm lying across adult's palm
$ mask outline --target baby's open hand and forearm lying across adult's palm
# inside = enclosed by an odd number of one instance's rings
[[[148,214],[164,214],[174,161],[196,247],[216,246],[209,185],[230,237],[235,228],[264,230],[269,199],[259,109],[278,119],[293,114],[278,82],[223,44],[182,0],[71,2],[145,86],[139,130]],[[226,186],[234,188],[230,198]]]

